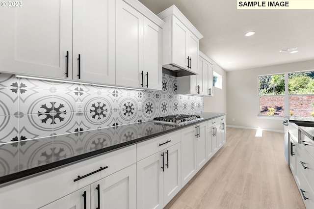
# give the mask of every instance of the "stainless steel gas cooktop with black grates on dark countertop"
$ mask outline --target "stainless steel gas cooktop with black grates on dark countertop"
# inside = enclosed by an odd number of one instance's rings
[[[163,117],[156,117],[152,121],[157,123],[183,125],[194,121],[199,121],[204,118],[199,115],[168,115]]]

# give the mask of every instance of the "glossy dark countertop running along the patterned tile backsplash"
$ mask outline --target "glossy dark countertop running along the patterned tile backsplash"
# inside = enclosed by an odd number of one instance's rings
[[[201,113],[203,120],[185,125],[146,121],[104,129],[0,144],[0,184],[102,155],[144,140],[225,115]]]

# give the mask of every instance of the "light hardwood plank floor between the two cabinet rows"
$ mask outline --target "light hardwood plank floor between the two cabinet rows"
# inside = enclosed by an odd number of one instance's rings
[[[226,129],[226,144],[166,209],[305,209],[284,155],[284,134]]]

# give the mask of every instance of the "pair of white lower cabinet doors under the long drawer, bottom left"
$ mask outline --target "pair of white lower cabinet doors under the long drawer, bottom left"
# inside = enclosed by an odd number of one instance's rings
[[[136,165],[85,186],[41,209],[136,209]]]

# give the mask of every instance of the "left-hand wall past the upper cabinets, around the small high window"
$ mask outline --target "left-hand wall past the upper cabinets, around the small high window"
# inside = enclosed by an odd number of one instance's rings
[[[222,89],[214,87],[213,97],[204,97],[204,112],[227,112],[227,73],[218,65],[214,71],[222,77]]]

